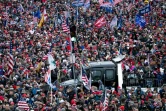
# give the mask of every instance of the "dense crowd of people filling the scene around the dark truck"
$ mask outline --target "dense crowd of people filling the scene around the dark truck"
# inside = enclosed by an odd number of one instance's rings
[[[100,1],[90,0],[88,8],[74,7],[72,0],[0,1],[0,111],[166,111],[165,1],[122,0],[111,11],[101,8]],[[135,16],[147,4],[151,10],[142,15],[146,25],[141,27]],[[96,28],[94,23],[101,16],[106,16],[107,24]],[[110,27],[115,16],[120,27]],[[64,18],[70,34],[62,27]],[[81,85],[77,95],[75,88],[60,86],[58,82],[73,78],[68,37],[76,39],[72,44],[76,75],[80,74],[81,61],[111,61],[123,54],[124,78],[128,73],[141,80],[153,77],[160,89],[148,87],[144,92],[143,84],[127,93],[123,88],[109,89],[103,102],[105,91],[95,86],[88,91]],[[52,89],[44,78],[48,53],[56,61],[51,72],[56,87]]]

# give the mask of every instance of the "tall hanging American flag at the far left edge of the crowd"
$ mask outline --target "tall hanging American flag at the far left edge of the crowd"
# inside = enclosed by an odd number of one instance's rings
[[[13,45],[12,45],[12,41],[10,41],[10,53],[8,54],[8,72],[7,74],[10,75],[13,72],[13,67],[14,67],[14,58],[12,55],[12,49],[13,49]]]

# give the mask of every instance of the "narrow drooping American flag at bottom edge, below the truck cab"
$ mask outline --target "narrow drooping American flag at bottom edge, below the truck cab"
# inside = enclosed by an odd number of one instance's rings
[[[101,98],[102,111],[105,111],[108,107],[109,99],[107,97],[107,89],[105,89],[103,96]]]

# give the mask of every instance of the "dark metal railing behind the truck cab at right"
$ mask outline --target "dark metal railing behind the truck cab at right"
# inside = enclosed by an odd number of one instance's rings
[[[141,87],[161,87],[163,81],[156,78],[145,78],[145,79],[124,79],[123,83],[127,86],[141,86]]]

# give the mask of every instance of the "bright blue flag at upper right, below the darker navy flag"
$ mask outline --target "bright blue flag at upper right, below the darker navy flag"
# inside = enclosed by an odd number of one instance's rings
[[[140,16],[139,14],[137,14],[135,16],[135,24],[139,25],[140,27],[145,27],[146,21],[145,21],[145,19],[142,16]]]

